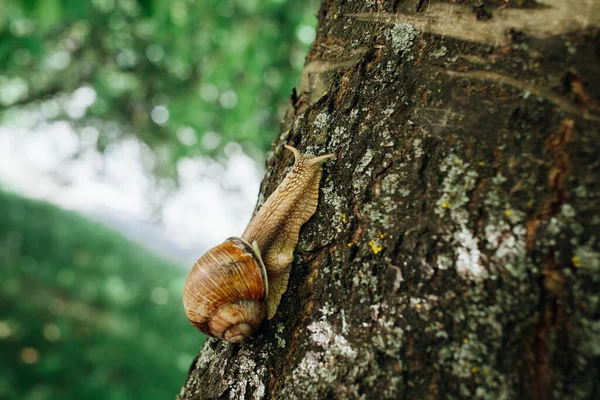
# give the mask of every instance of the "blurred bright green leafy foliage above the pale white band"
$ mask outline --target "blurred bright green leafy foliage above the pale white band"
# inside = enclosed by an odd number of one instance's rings
[[[230,142],[260,158],[299,79],[316,4],[2,0],[0,117],[68,120],[98,135],[100,150],[136,136],[159,175]]]

